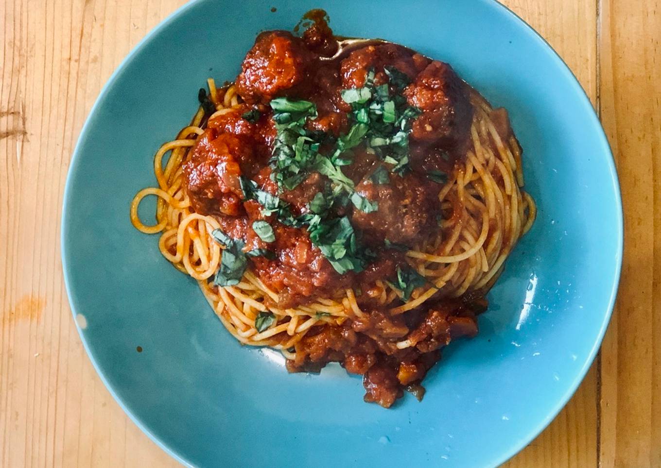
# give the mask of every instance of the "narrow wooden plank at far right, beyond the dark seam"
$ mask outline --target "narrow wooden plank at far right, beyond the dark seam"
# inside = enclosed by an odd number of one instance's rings
[[[602,467],[661,466],[661,1],[600,5],[600,110],[625,213],[618,306],[602,347]],[[660,229],[657,229],[660,228]]]

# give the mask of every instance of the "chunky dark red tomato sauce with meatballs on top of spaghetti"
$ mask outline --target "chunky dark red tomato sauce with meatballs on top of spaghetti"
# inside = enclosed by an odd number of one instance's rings
[[[364,374],[366,401],[389,407],[405,387],[420,388],[442,347],[477,333],[475,315],[485,306],[481,298],[432,300],[424,308],[391,316],[371,299],[374,282],[393,278],[397,265],[404,263],[403,253],[386,248],[384,241],[410,247],[438,226],[440,186],[426,173],[449,172],[465,156],[473,107],[467,84],[447,63],[395,44],[367,46],[333,61],[320,60],[332,56],[336,48],[331,30],[319,21],[300,38],[284,31],[260,34],[236,81],[243,104],[208,120],[184,163],[184,176],[196,212],[214,215],[224,232],[245,241],[245,250],[268,248],[276,253],[276,259],[251,257],[250,261],[254,273],[278,292],[280,308],[348,287],[362,292],[358,302],[366,318],[313,327],[295,345],[296,358],[288,362],[288,369],[319,370],[327,362],[340,362],[348,372]],[[313,246],[305,228],[285,226],[274,216],[262,215],[256,201],[244,201],[239,176],[290,203],[293,215],[308,213],[307,204],[329,181],[312,172],[295,189],[283,191],[270,178],[268,160],[277,132],[268,103],[280,96],[314,102],[319,115],[307,127],[342,135],[350,127],[351,108],[340,91],[363,86],[369,70],[375,72],[375,84],[389,83],[386,66],[407,75],[410,84],[402,94],[422,111],[410,132],[412,172],[390,173],[389,184],[373,184],[369,175],[382,162],[364,147],[354,149],[354,162],[342,172],[354,181],[360,195],[377,201],[379,208],[364,213],[349,205],[340,214],[350,218],[362,243],[377,255],[364,271],[340,275]],[[260,113],[256,121],[243,117],[251,110]],[[253,222],[259,219],[274,229],[274,242],[267,244],[253,231]],[[410,346],[398,349],[396,343],[403,340]]]

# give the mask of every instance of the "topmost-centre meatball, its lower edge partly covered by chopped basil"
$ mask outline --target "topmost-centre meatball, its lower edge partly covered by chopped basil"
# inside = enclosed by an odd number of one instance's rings
[[[374,83],[383,84],[388,81],[388,75],[383,71],[384,65],[395,67],[414,79],[428,63],[429,59],[424,55],[397,44],[383,44],[352,51],[340,63],[340,74],[345,88],[360,88],[365,84],[369,69],[374,69]]]

